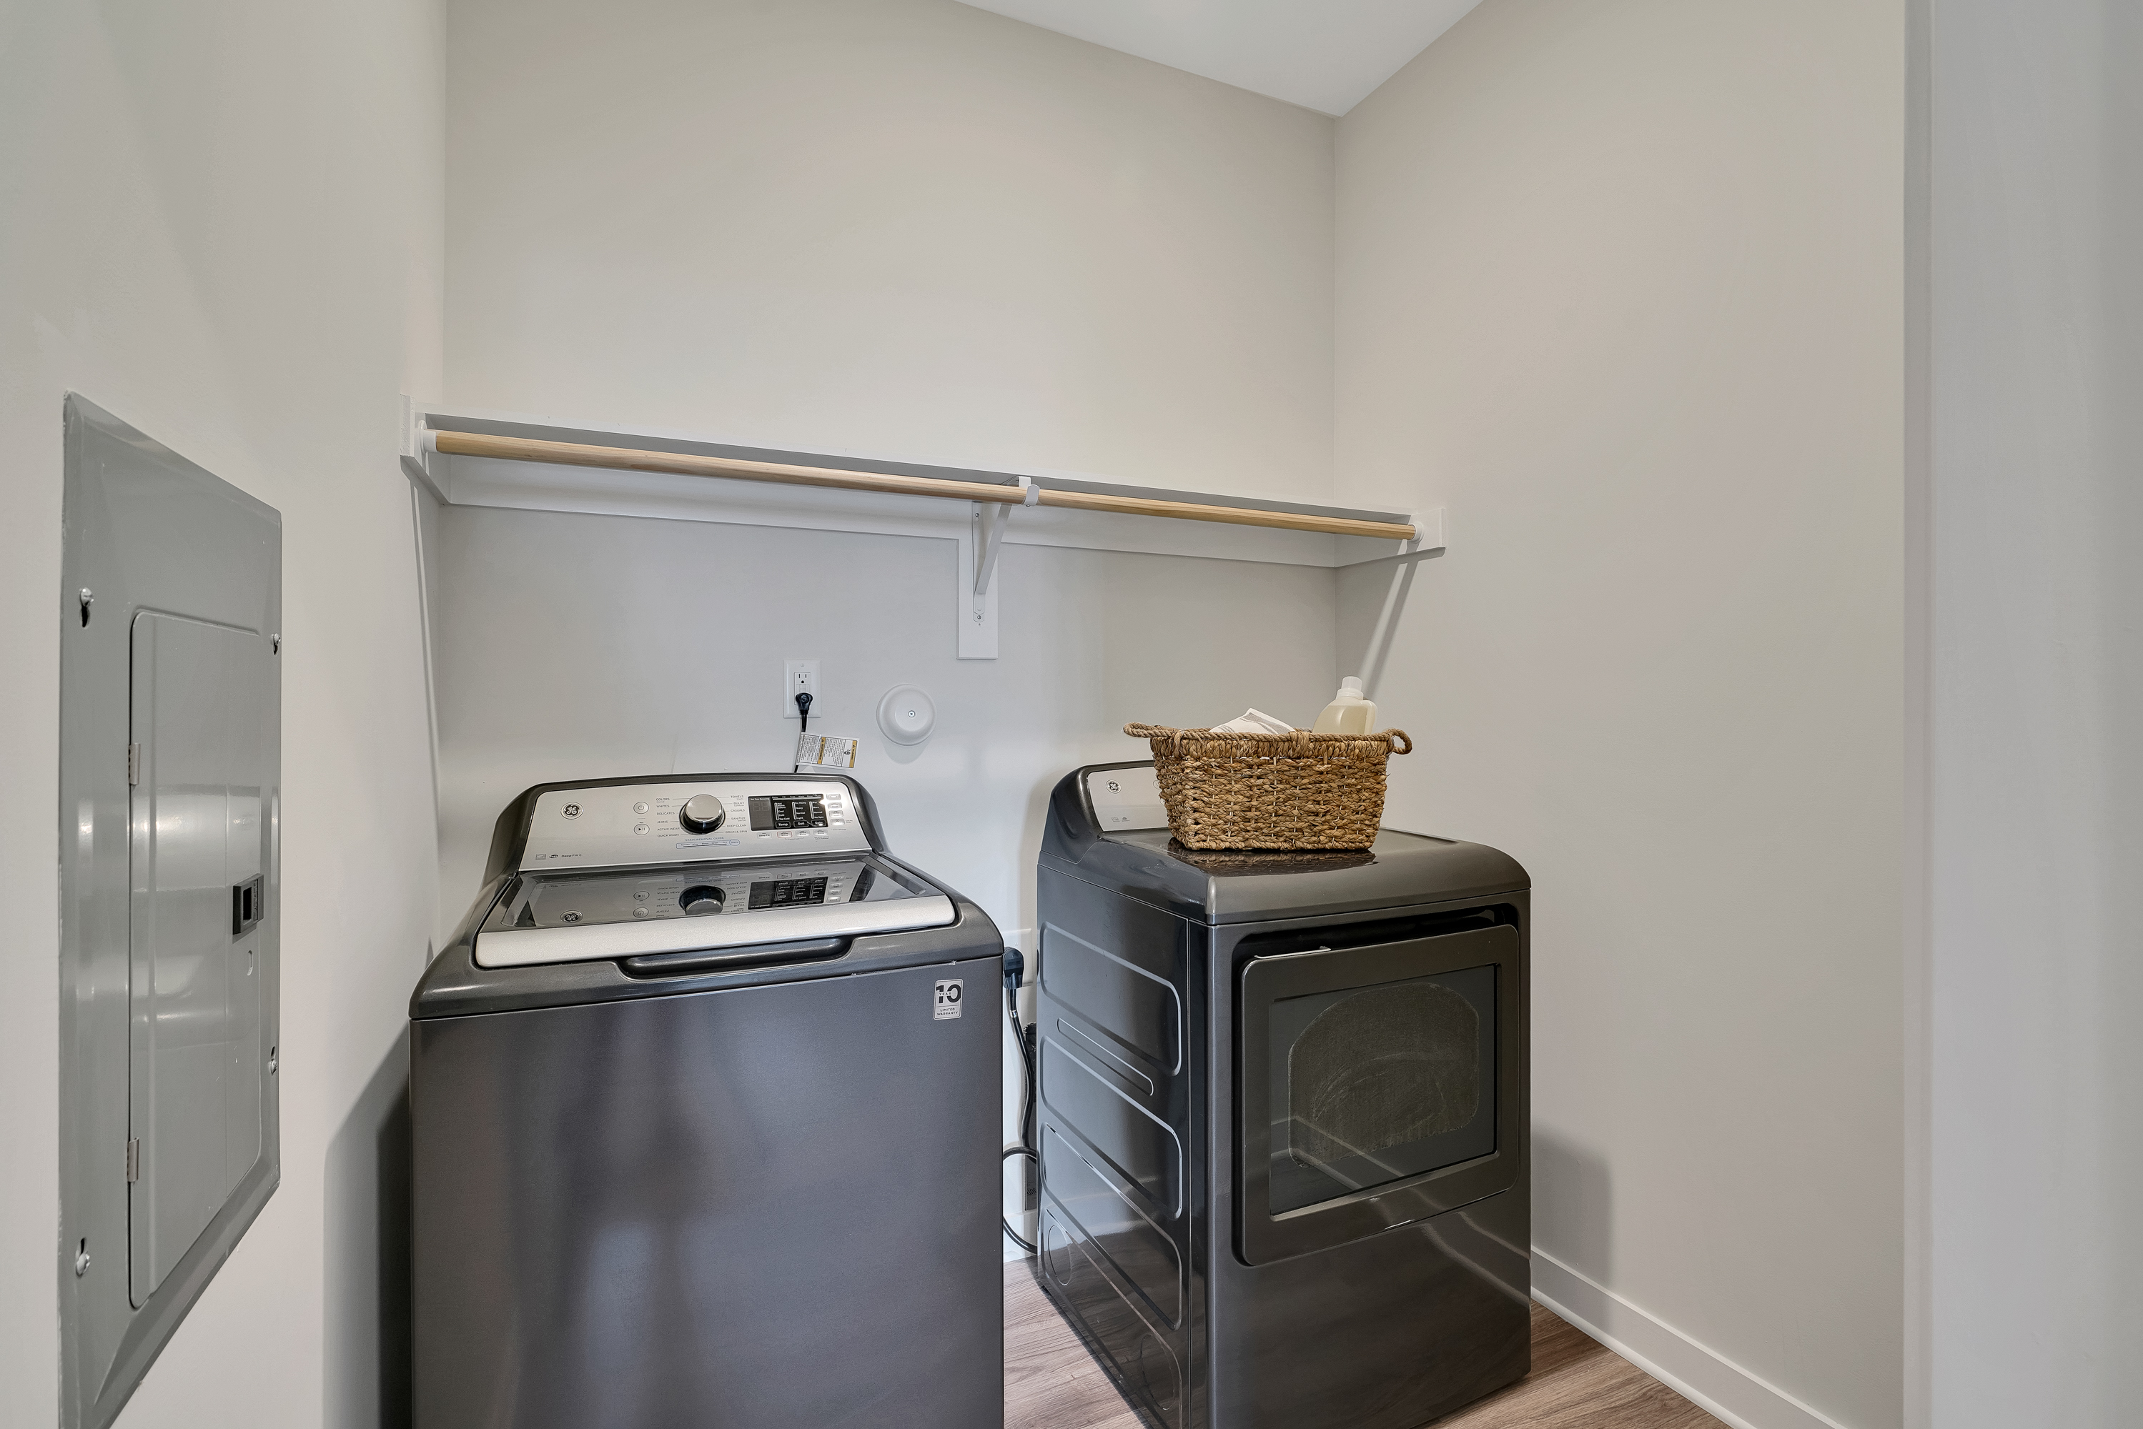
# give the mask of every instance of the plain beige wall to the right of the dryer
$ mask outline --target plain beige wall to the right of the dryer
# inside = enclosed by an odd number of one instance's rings
[[[1766,1427],[1901,1414],[1901,154],[1856,0],[1489,0],[1339,120],[1339,491],[1453,512],[1391,816],[1537,887],[1537,1283]]]

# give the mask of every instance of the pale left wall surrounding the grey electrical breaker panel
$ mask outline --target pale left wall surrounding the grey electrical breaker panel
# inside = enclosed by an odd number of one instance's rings
[[[283,512],[283,1185],[120,1423],[377,1425],[377,1120],[435,904],[394,394],[439,373],[441,26],[9,6],[0,41],[0,1420],[58,1416],[60,398]],[[118,1161],[114,1161],[118,1165]]]

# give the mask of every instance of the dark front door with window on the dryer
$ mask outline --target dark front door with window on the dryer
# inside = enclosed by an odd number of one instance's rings
[[[1252,958],[1237,1018],[1249,1264],[1509,1189],[1522,1165],[1517,928]]]

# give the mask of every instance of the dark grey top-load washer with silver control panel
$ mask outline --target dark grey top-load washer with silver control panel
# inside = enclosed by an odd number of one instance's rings
[[[514,799],[409,1007],[418,1429],[1001,1429],[1001,968],[855,780]]]

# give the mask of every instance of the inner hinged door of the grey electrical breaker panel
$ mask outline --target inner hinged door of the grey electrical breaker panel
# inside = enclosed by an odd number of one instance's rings
[[[259,874],[268,641],[133,623],[129,1285],[163,1283],[261,1155]],[[251,902],[249,902],[251,898]]]

